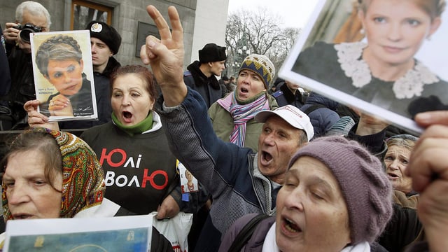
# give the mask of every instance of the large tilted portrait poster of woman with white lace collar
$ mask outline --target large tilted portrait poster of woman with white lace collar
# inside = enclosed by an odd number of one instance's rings
[[[420,134],[416,113],[448,109],[447,11],[360,2],[318,0],[279,76]]]

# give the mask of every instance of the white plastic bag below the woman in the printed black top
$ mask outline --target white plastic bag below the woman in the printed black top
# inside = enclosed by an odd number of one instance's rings
[[[188,233],[193,224],[193,214],[179,212],[173,218],[158,220],[153,214],[153,226],[164,235],[173,246],[174,252],[188,252]]]

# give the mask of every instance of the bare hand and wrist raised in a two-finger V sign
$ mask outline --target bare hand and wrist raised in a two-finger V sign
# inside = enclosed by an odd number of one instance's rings
[[[165,106],[177,106],[187,95],[187,87],[183,82],[183,29],[179,13],[174,6],[169,6],[169,22],[172,31],[159,10],[152,5],[146,7],[154,20],[160,34],[146,37],[146,44],[141,46],[140,57],[144,64],[151,64],[165,101]]]

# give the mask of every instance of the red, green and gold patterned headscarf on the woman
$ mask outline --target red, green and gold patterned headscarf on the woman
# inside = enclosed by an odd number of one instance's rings
[[[68,132],[34,128],[55,138],[62,156],[62,201],[60,218],[72,218],[78,212],[101,204],[106,185],[97,155],[85,142]],[[26,133],[22,133],[26,134]],[[12,218],[8,209],[6,186],[2,188],[3,218]]]

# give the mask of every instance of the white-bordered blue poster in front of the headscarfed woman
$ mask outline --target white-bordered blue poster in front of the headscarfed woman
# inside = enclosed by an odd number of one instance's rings
[[[152,216],[10,220],[3,251],[141,251],[151,248]]]

